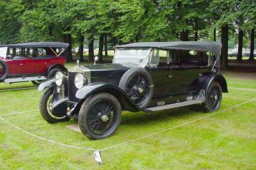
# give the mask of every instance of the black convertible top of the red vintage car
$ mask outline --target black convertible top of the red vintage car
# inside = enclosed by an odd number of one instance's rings
[[[60,43],[60,42],[31,42],[31,43],[17,43],[10,45],[2,45],[2,47],[62,47],[67,48],[68,43]]]

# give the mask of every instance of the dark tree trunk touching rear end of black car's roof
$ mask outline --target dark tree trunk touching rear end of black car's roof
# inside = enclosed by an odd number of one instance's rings
[[[228,68],[228,25],[221,27],[221,67],[222,70]]]

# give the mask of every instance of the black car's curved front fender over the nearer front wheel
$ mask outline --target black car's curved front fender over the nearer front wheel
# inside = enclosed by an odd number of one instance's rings
[[[109,93],[115,96],[118,101],[120,102],[120,105],[122,107],[122,110],[127,111],[133,111],[137,112],[141,109],[134,103],[129,96],[127,96],[126,92],[124,92],[122,89],[117,87],[116,85],[110,84],[110,83],[91,83],[89,85],[85,85],[81,89],[77,90],[77,93],[75,96],[77,98],[80,98],[80,101],[82,102],[86,100],[86,98],[89,98],[89,96],[93,94],[98,93]],[[80,103],[80,102],[79,102]],[[82,105],[82,103],[80,103]]]

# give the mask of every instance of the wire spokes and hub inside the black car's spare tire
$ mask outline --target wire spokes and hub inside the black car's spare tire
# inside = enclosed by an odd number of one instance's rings
[[[143,105],[149,97],[149,82],[143,75],[136,74],[127,83],[127,94],[137,105]]]

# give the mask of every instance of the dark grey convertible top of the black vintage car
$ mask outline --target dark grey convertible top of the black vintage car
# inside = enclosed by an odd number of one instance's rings
[[[221,43],[206,41],[172,41],[172,42],[145,42],[130,43],[126,45],[118,45],[116,48],[132,48],[132,47],[154,47],[163,50],[179,49],[179,50],[199,50],[213,52],[216,60],[216,67],[220,67]]]

